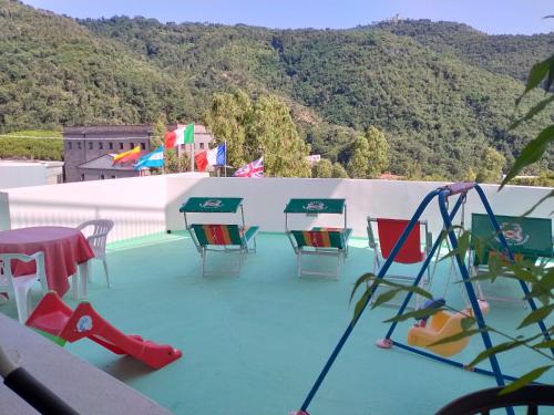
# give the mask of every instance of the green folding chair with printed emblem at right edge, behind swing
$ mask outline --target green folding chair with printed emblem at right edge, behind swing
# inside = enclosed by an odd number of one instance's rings
[[[502,235],[514,255],[516,260],[529,260],[538,266],[545,266],[554,257],[552,238],[552,219],[516,217],[495,215]],[[476,252],[476,240],[481,241],[481,252]],[[472,276],[479,276],[489,269],[489,258],[492,255],[504,256],[497,235],[485,214],[473,214],[471,216],[471,270]],[[479,253],[479,255],[478,255]],[[502,287],[499,287],[497,280],[495,293],[483,293],[486,300],[522,302],[523,298],[501,295]],[[484,284],[482,284],[484,286]]]

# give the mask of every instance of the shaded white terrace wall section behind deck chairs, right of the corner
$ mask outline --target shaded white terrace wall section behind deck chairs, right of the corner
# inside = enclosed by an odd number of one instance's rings
[[[442,183],[356,180],[356,179],[304,179],[304,178],[203,178],[187,179],[179,175],[167,177],[167,229],[183,229],[183,216],[178,208],[191,196],[235,196],[243,197],[247,225],[258,225],[261,230],[283,231],[287,201],[294,197],[335,197],[347,200],[348,226],[355,236],[366,236],[366,217],[392,217],[409,219],[421,200]],[[497,186],[483,185],[483,189],[496,214],[521,215],[550,188],[509,186],[497,193]],[[452,204],[454,203],[454,198]],[[533,216],[547,217],[554,203],[541,205]],[[484,212],[475,191],[468,196],[465,207],[466,224],[471,212]],[[293,216],[291,216],[293,217]],[[442,228],[438,200],[434,199],[422,215],[434,235]],[[198,219],[201,219],[198,217]],[[202,218],[205,220],[205,217]],[[214,221],[224,220],[215,217]],[[194,217],[193,217],[194,221]],[[340,226],[341,218],[320,215],[307,218],[295,215],[291,227],[301,229],[307,225]]]

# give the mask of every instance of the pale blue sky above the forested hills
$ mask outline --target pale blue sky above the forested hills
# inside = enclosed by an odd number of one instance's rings
[[[490,34],[554,31],[554,0],[23,0],[74,18],[143,15],[162,22],[244,23],[266,28],[345,29],[400,13],[456,21]]]

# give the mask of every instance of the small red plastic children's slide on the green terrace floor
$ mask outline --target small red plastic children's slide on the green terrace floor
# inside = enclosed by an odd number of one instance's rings
[[[27,320],[27,325],[68,342],[89,338],[113,353],[127,354],[154,369],[163,367],[183,355],[171,345],[161,345],[143,340],[140,335],[122,333],[86,301],[73,311],[54,291],[44,295]]]

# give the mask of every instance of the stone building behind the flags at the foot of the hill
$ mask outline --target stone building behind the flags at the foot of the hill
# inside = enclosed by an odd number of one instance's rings
[[[173,131],[182,125],[168,125]],[[195,153],[207,149],[213,136],[203,125],[194,126]],[[65,181],[101,180],[121,177],[136,177],[144,173],[134,170],[132,164],[113,165],[112,154],[141,146],[146,154],[152,151],[153,126],[141,125],[95,125],[74,126],[63,129],[63,153]],[[181,152],[189,153],[189,146]]]

